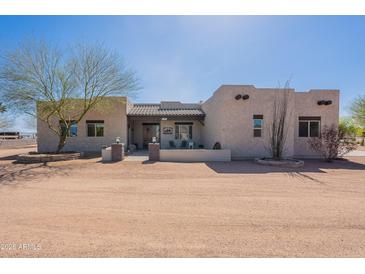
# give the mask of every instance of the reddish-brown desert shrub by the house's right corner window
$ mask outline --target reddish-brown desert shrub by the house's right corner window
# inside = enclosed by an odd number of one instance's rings
[[[356,142],[352,138],[345,138],[345,133],[335,125],[324,126],[320,137],[312,137],[308,140],[312,150],[318,152],[326,161],[345,155],[356,149]]]

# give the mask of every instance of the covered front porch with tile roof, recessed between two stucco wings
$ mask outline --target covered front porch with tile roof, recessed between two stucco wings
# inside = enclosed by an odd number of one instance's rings
[[[128,108],[128,149],[147,149],[160,143],[161,149],[202,148],[205,113],[200,104],[162,101],[133,104]]]

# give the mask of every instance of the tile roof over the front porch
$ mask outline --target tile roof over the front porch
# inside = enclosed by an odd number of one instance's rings
[[[160,104],[133,104],[129,116],[204,116],[200,104],[162,101]]]

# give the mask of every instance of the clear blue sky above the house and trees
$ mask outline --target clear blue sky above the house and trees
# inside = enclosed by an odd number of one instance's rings
[[[137,71],[136,102],[206,100],[221,84],[365,94],[365,16],[0,16],[0,51],[103,42]]]

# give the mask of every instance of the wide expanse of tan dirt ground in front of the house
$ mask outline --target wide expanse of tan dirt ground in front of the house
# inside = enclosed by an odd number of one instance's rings
[[[16,164],[0,150],[0,257],[364,257],[365,157]]]

